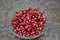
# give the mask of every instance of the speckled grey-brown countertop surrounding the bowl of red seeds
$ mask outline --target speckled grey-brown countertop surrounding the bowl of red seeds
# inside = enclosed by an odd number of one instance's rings
[[[40,39],[60,40],[60,0],[0,0],[0,40],[22,40],[8,31],[6,19],[9,13],[27,7],[36,7],[42,12],[48,12],[46,30]]]

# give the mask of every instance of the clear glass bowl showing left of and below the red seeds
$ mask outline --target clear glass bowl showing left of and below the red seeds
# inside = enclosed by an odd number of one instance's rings
[[[33,36],[33,37],[24,37],[24,36],[20,36],[20,35],[16,34],[16,33],[13,31],[13,26],[12,26],[12,24],[11,24],[11,19],[14,18],[15,14],[16,14],[16,13],[9,13],[9,14],[7,15],[7,27],[8,27],[8,29],[9,29],[9,31],[10,31],[13,35],[15,35],[15,36],[17,36],[17,37],[19,37],[19,38],[22,38],[22,39],[34,39],[34,38],[40,37],[40,36],[44,33],[45,29],[43,29],[43,31],[42,31],[40,34],[35,35],[35,36]]]

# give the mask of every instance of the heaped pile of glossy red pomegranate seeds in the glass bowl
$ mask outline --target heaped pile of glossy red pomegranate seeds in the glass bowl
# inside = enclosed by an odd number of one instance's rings
[[[20,36],[35,36],[43,31],[45,16],[37,9],[26,8],[16,12],[12,20],[13,31]]]

